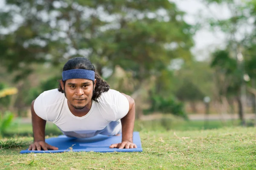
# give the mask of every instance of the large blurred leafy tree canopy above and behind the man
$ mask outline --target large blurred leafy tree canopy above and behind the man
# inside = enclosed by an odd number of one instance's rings
[[[170,61],[190,59],[195,28],[184,12],[168,0],[41,1],[7,0],[0,14],[6,29],[0,34],[0,62],[17,79],[30,74],[32,63],[59,65],[79,55],[88,57],[104,77],[120,65],[144,82],[159,76]],[[143,88],[138,84],[134,91]]]

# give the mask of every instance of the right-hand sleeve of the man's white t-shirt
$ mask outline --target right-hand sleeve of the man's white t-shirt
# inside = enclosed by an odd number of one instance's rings
[[[122,119],[129,111],[128,99],[119,91],[113,91],[113,101],[115,106],[115,119]]]

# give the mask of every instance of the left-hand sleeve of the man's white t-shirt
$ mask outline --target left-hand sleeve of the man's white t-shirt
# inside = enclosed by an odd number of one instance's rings
[[[47,120],[46,111],[44,107],[44,93],[40,94],[34,102],[35,113],[44,120]],[[47,120],[48,121],[48,120]]]

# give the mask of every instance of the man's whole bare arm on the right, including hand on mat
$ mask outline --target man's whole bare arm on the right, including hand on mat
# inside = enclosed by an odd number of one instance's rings
[[[111,144],[110,148],[117,147],[119,149],[123,148],[136,148],[136,144],[133,143],[133,131],[134,131],[134,121],[135,121],[135,102],[131,96],[121,93],[124,95],[129,102],[129,111],[121,119],[122,123],[122,142],[118,144]]]

